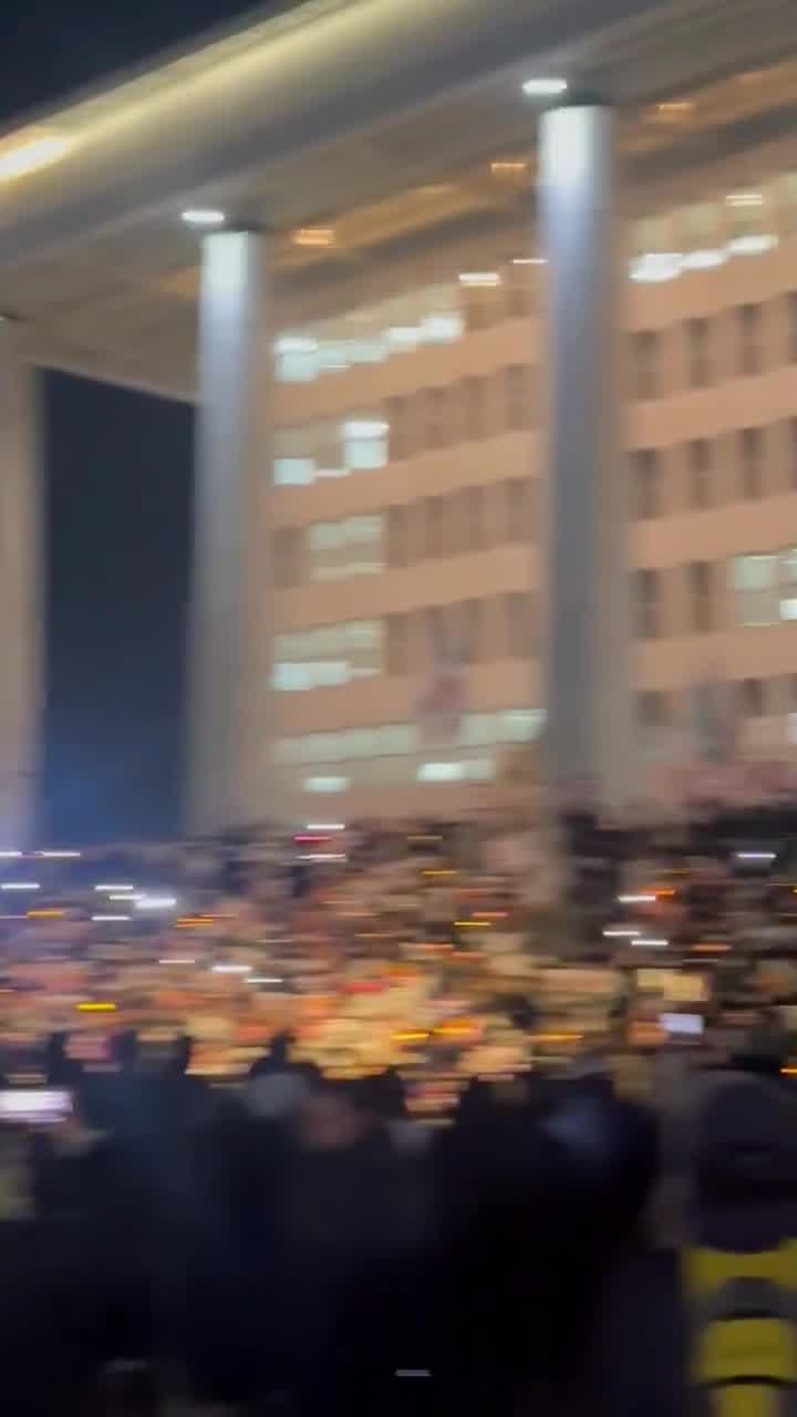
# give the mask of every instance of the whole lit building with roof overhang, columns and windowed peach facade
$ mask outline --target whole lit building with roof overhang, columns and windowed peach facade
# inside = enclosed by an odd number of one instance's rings
[[[35,367],[197,404],[191,829],[787,761],[796,55],[793,0],[303,0],[0,139],[9,840]]]

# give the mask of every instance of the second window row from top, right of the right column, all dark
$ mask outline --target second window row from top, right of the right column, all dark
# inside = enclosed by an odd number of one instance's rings
[[[767,368],[797,364],[797,292],[667,330],[638,330],[630,340],[632,398],[662,398],[672,393],[671,371],[681,354],[679,344],[691,388],[763,374]]]

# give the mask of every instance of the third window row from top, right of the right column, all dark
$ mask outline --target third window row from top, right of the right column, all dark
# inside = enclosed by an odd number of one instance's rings
[[[641,519],[796,490],[797,418],[631,453],[631,503]]]

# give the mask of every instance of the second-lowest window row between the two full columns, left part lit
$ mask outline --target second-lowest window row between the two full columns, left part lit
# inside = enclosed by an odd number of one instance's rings
[[[284,691],[333,689],[377,674],[525,659],[536,652],[536,598],[528,591],[506,591],[277,635],[271,682]]]

